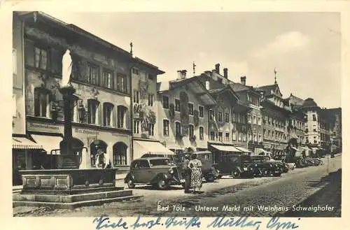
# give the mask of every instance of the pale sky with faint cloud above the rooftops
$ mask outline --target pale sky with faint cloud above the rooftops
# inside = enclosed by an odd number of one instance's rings
[[[72,13],[45,11],[103,38],[166,73],[193,76],[228,68],[228,78],[253,87],[272,85],[274,69],[283,97],[313,98],[318,106],[341,107],[339,13]]]

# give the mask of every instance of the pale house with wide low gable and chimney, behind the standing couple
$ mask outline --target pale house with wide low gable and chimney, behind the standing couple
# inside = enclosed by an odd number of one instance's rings
[[[158,84],[158,139],[173,152],[207,150],[213,96],[197,77],[178,71],[176,80]]]

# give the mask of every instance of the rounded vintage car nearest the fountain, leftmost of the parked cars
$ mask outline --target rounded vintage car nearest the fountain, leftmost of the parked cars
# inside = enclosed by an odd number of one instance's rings
[[[169,158],[142,157],[132,161],[124,182],[130,189],[138,184],[167,189],[170,185],[183,185],[185,180],[181,169],[172,164]]]

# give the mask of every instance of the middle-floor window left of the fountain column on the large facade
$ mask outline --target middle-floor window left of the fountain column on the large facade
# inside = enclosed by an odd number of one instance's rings
[[[50,92],[46,89],[36,88],[34,89],[34,116],[36,117],[49,117]]]

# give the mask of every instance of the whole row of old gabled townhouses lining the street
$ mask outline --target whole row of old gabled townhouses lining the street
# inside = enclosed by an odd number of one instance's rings
[[[162,82],[165,73],[130,52],[41,12],[13,14],[13,171],[50,168],[64,133],[62,56],[71,51],[75,145],[81,167],[102,149],[127,170],[143,154],[183,150],[282,155],[341,148],[341,109],[279,85],[252,87],[215,69]],[[335,148],[333,146],[333,148]],[[219,157],[219,154],[216,154]]]

